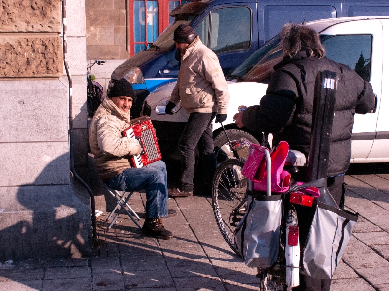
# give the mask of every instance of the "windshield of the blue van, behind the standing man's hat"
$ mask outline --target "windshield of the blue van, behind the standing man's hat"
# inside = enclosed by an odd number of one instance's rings
[[[195,14],[180,14],[176,16],[174,22],[159,35],[156,41],[149,45],[146,50],[151,51],[170,51],[174,46],[173,33],[174,30],[181,24],[190,25],[195,18]]]

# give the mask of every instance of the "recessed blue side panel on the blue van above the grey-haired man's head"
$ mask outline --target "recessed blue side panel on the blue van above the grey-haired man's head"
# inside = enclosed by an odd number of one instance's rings
[[[264,9],[265,41],[277,35],[285,23],[302,23],[305,16],[305,21],[336,18],[336,9],[332,6],[267,5]]]

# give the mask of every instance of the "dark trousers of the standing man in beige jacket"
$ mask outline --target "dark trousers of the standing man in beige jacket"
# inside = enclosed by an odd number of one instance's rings
[[[192,112],[189,115],[184,132],[182,133],[178,148],[181,153],[181,185],[182,191],[193,191],[193,177],[195,176],[195,147],[203,155],[204,177],[206,183],[212,182],[216,171],[216,156],[213,145],[212,120],[216,112]]]

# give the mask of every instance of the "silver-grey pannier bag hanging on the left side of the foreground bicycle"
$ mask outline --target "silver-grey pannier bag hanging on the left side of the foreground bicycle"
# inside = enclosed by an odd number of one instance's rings
[[[278,257],[282,194],[249,191],[248,211],[234,231],[235,247],[249,267],[270,267]]]

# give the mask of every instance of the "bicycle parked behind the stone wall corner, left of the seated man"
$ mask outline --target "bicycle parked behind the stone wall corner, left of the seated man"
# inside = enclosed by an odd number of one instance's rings
[[[89,118],[93,117],[103,97],[103,87],[98,82],[93,81],[96,77],[90,74],[90,69],[94,64],[103,65],[103,63],[105,62],[94,60],[87,66],[87,113]]]

